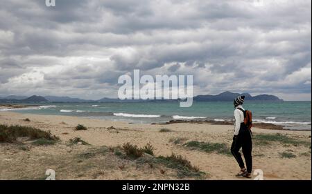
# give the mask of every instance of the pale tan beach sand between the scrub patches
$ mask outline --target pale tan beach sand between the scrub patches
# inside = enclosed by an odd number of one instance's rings
[[[24,119],[30,119],[30,122]],[[60,137],[60,142],[49,146],[26,144],[27,150],[17,144],[0,144],[0,180],[44,179],[46,169],[53,169],[60,180],[180,180],[174,169],[153,168],[135,160],[116,157],[113,152],[92,154],[102,146],[122,146],[126,142],[139,147],[148,142],[155,148],[155,155],[175,153],[186,157],[193,166],[205,173],[205,180],[245,180],[235,177],[239,172],[234,157],[222,153],[207,153],[190,149],[183,144],[190,141],[226,144],[230,147],[233,126],[212,124],[128,124],[83,117],[57,115],[28,115],[0,112],[0,124],[33,126],[50,130]],[[73,130],[83,124],[87,130]],[[110,128],[113,126],[113,128]],[[162,128],[171,130],[159,132]],[[277,135],[296,139],[298,144],[272,141],[261,144],[254,140],[253,169],[263,171],[264,180],[311,180],[311,131],[271,130],[252,128],[257,135]],[[69,139],[80,137],[91,144],[69,146]],[[259,137],[259,136],[258,136]],[[305,142],[301,144],[300,142]],[[83,155],[85,153],[85,155]],[[281,157],[291,153],[295,157]],[[91,157],[88,156],[92,155]],[[77,157],[77,155],[85,157]],[[144,156],[145,157],[145,156]],[[255,175],[254,175],[255,177]]]

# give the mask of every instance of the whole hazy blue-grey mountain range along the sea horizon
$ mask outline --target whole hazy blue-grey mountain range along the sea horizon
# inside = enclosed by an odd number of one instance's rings
[[[239,95],[245,95],[245,100],[252,100],[252,101],[283,101],[283,99],[279,99],[279,97],[275,95],[256,95],[252,96],[249,93],[231,93],[229,91],[220,93],[218,95],[197,95],[193,97],[194,101],[232,101],[235,97]],[[88,99],[79,99],[79,98],[72,98],[72,97],[58,97],[58,96],[37,96],[33,95],[31,97],[26,96],[18,96],[18,95],[9,95],[7,97],[0,97],[0,102],[13,102],[13,103],[46,103],[46,102],[62,102],[62,103],[83,103],[83,102],[139,102],[139,101],[146,101],[146,100],[134,100],[134,99],[114,99],[114,98],[107,98],[104,97],[98,100],[88,100]],[[150,99],[148,101],[176,101],[173,99],[159,99],[153,100]]]

